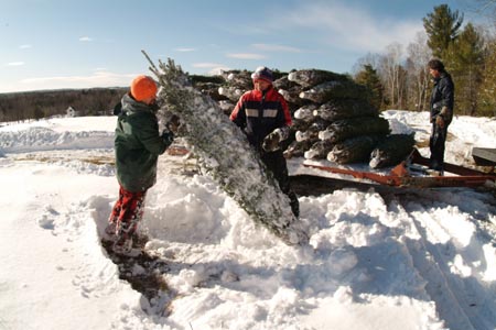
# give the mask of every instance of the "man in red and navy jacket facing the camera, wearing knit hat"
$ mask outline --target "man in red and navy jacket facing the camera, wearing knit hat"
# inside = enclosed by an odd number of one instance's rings
[[[295,217],[300,215],[298,196],[291,190],[285,158],[279,143],[289,135],[291,114],[284,98],[273,88],[273,75],[259,67],[251,75],[254,90],[245,92],[230,113],[230,120],[245,131],[250,144],[290,198]]]

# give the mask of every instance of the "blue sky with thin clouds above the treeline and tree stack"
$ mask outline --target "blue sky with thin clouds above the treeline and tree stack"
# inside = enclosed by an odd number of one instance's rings
[[[128,86],[150,74],[141,50],[190,74],[347,73],[367,53],[408,45],[434,6],[463,12],[464,2],[0,0],[0,92]]]

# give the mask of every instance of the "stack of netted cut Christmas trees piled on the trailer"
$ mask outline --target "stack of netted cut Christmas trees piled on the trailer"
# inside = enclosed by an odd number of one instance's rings
[[[274,75],[273,85],[293,117],[291,139],[283,145],[285,157],[368,162],[380,168],[398,164],[411,152],[413,136],[390,134],[388,121],[369,101],[369,91],[348,76],[320,69]],[[208,85],[217,90],[207,94],[229,114],[239,97],[252,89],[250,72],[226,72],[218,77]]]

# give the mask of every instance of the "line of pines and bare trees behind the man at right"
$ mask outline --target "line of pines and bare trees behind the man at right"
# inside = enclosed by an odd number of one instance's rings
[[[493,9],[496,23],[496,1],[478,3]],[[360,58],[355,80],[373,91],[380,109],[427,111],[432,89],[427,64],[435,57],[453,77],[455,113],[496,116],[496,35],[487,26],[463,25],[463,13],[448,4],[434,7],[422,21],[424,32],[407,50],[393,43],[382,54]]]

